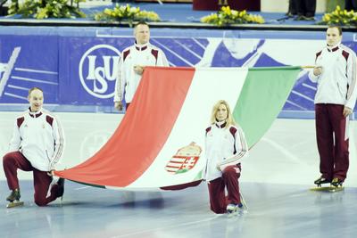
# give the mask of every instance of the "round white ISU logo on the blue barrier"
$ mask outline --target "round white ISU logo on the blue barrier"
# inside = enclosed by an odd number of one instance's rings
[[[97,98],[114,95],[118,77],[120,51],[112,45],[95,45],[83,54],[79,62],[80,83]]]

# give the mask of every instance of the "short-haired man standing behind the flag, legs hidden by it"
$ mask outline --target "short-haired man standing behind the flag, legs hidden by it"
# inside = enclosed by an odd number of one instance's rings
[[[119,75],[115,83],[114,107],[122,109],[122,97],[125,92],[127,109],[139,85],[145,66],[169,66],[165,53],[151,45],[150,29],[147,23],[140,21],[134,28],[135,44],[121,53]]]

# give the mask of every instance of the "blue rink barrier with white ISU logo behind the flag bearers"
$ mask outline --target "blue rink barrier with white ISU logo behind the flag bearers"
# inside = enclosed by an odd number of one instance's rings
[[[313,65],[325,45],[324,32],[152,29],[151,35],[172,67]],[[354,51],[355,38],[344,34]],[[120,52],[133,40],[132,29],[0,28],[0,111],[22,110],[29,88],[39,86],[54,111],[113,112]],[[313,118],[316,85],[307,73],[301,71],[280,117]]]

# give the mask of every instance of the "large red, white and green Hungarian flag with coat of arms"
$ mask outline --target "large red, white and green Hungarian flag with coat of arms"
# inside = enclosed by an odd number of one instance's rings
[[[213,105],[219,100],[229,103],[252,147],[276,119],[300,70],[147,67],[129,110],[103,148],[55,174],[128,190],[200,181]]]

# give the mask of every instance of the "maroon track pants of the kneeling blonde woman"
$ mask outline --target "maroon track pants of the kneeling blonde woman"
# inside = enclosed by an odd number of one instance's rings
[[[226,213],[229,203],[239,204],[240,193],[238,178],[240,176],[240,166],[228,166],[222,171],[222,176],[208,183],[210,193],[211,209],[214,213]],[[226,197],[225,188],[228,196]]]

